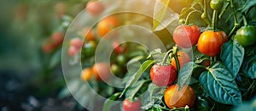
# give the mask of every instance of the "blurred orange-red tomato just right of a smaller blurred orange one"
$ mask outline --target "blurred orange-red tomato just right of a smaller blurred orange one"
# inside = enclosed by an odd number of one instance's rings
[[[96,63],[92,66],[92,73],[96,76],[96,80],[108,80],[111,70],[107,63]]]

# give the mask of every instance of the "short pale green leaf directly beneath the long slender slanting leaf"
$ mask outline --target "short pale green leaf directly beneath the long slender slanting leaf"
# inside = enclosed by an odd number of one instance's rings
[[[134,97],[135,94],[142,89],[143,84],[148,82],[148,80],[139,80],[134,86],[131,86],[131,88],[125,93],[125,97]]]

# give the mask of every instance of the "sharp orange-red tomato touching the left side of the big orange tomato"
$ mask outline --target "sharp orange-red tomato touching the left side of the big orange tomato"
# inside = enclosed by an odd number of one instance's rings
[[[173,32],[173,40],[179,47],[189,48],[197,44],[201,34],[197,25],[180,25]]]

